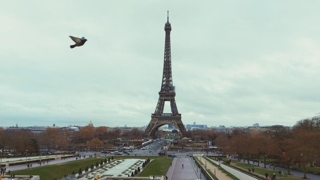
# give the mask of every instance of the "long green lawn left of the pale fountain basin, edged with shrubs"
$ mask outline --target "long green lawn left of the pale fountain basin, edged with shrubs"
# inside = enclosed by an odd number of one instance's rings
[[[99,158],[88,158],[84,160],[76,160],[71,162],[66,162],[62,164],[46,165],[42,167],[35,167],[23,170],[11,171],[11,174],[15,175],[40,175],[40,179],[58,179],[64,175],[71,174],[72,171],[75,173],[79,172],[79,168],[82,171],[85,169],[85,166],[90,166],[93,164],[96,165],[96,162],[100,164],[100,161],[104,159]]]

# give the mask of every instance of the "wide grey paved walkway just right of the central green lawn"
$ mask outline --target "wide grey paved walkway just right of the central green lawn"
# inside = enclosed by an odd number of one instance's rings
[[[182,168],[182,165],[184,167]],[[169,168],[167,174],[168,180],[196,180],[198,176],[192,167],[189,158],[178,157],[172,161],[172,166]]]

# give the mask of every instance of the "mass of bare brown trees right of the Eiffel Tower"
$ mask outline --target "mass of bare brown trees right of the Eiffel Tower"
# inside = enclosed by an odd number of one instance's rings
[[[236,129],[219,134],[216,143],[226,154],[237,154],[239,161],[263,157],[265,167],[268,157],[285,164],[289,174],[290,166],[302,166],[306,178],[306,166],[320,166],[320,116],[300,120],[292,130],[275,127],[250,133]]]

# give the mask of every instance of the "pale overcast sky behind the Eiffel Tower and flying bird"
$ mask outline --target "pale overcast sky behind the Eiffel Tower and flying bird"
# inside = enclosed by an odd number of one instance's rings
[[[294,125],[320,113],[319,7],[2,1],[0,126],[147,125],[161,88],[168,9],[184,124]],[[88,41],[70,49],[69,35]]]

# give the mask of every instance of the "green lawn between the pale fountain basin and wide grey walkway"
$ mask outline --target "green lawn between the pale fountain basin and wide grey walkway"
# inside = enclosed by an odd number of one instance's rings
[[[172,162],[172,160],[173,158],[155,159],[151,161],[150,164],[139,174],[139,177],[149,177],[150,175],[165,175],[170,167],[170,163]]]

